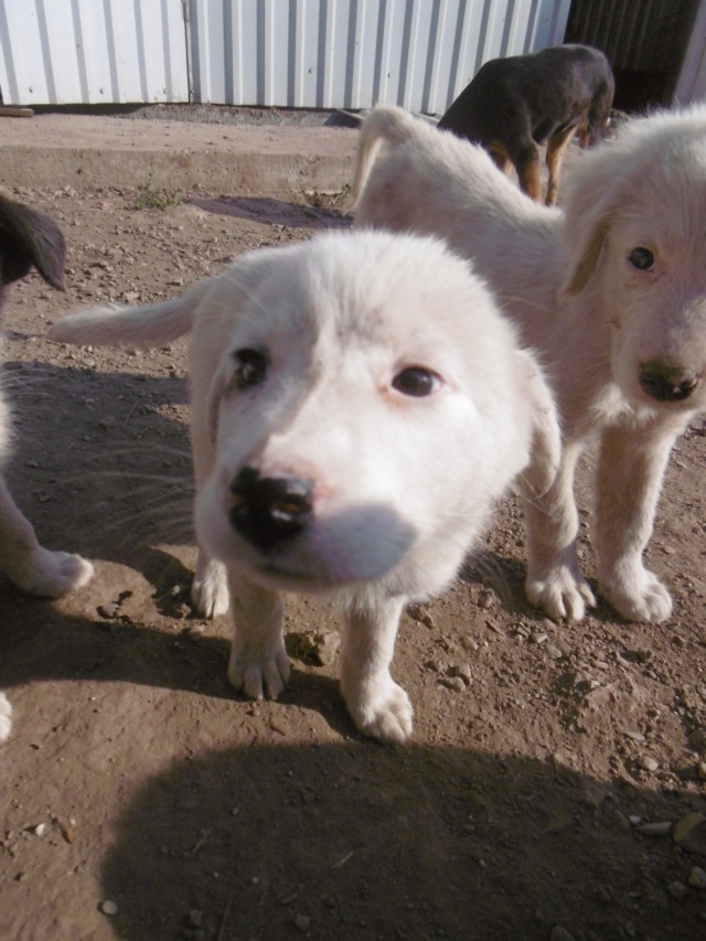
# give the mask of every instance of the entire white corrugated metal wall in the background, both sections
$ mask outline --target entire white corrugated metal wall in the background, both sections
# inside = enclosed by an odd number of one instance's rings
[[[441,113],[488,58],[561,42],[570,0],[0,0],[4,104]],[[189,61],[191,60],[191,62]]]

